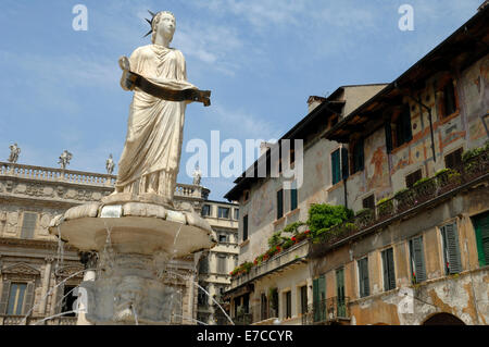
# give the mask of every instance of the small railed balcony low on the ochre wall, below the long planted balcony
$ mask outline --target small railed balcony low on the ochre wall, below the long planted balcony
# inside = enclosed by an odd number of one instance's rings
[[[350,321],[350,298],[331,297],[308,307],[302,325],[344,324]]]

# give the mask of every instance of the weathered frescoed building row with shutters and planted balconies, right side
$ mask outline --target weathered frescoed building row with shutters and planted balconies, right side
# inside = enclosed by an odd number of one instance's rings
[[[388,85],[311,97],[273,147],[303,139],[300,187],[236,179],[239,267],[225,294],[236,321],[489,323],[487,23],[481,7]],[[281,165],[298,164],[291,153]],[[322,233],[290,227],[317,205],[353,214]]]

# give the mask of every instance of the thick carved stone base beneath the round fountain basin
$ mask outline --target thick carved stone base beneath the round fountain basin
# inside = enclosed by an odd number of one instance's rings
[[[177,288],[158,277],[165,263],[140,255],[101,258],[98,278],[80,285],[88,295],[85,317],[91,323],[170,324],[181,311]]]

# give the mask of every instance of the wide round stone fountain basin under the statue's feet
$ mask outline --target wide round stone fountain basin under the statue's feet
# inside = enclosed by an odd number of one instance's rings
[[[195,211],[145,202],[74,207],[57,215],[49,231],[80,251],[102,250],[108,231],[111,246],[122,253],[163,251],[178,258],[216,245],[212,227]]]

